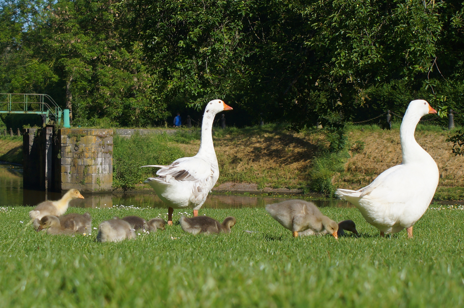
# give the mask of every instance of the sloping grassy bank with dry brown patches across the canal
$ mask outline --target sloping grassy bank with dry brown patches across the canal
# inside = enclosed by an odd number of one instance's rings
[[[419,124],[416,139],[435,159],[440,170],[435,200],[464,200],[464,157],[451,153],[450,132]],[[336,188],[359,189],[382,171],[401,163],[400,124],[392,130],[379,126],[348,126],[347,143],[338,153],[329,152],[324,130],[292,132],[285,126],[214,128],[219,162],[217,185],[224,182],[256,183],[258,188],[303,189],[332,195]],[[21,139],[0,138],[0,160],[20,162]],[[200,131],[179,129],[174,136],[114,136],[113,187],[148,188],[142,182],[155,175],[146,164],[168,164],[193,156],[200,146]],[[2,153],[1,151],[4,151]]]

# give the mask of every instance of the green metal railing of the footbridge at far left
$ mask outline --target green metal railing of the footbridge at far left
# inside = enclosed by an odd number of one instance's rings
[[[63,110],[47,94],[0,93],[0,113],[39,114],[45,125],[61,126]]]

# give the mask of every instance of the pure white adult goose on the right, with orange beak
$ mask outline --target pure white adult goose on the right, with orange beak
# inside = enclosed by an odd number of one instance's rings
[[[385,170],[359,190],[335,192],[340,199],[353,203],[381,236],[406,228],[408,238],[412,238],[412,226],[425,213],[437,189],[437,164],[414,138],[419,119],[428,113],[437,111],[427,101],[409,103],[400,128],[400,165]]]

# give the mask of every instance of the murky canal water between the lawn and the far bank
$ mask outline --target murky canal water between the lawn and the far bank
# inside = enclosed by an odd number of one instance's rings
[[[23,189],[22,166],[0,163],[0,206],[36,205],[44,200],[58,200],[63,193],[45,193]],[[85,199],[71,201],[74,207],[112,207],[116,205],[136,207],[166,207],[153,191],[136,193],[83,194]],[[348,202],[336,199],[305,198],[298,195],[210,194],[204,208],[264,207],[266,204],[291,198],[305,199],[319,207],[347,207]]]

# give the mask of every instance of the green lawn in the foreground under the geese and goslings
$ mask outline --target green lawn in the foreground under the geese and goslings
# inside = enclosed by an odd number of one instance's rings
[[[355,208],[322,208],[334,220],[356,222],[360,237],[338,240],[294,239],[264,208],[205,208],[200,214],[219,220],[235,216],[232,233],[193,236],[177,224],[103,244],[95,241],[96,230],[85,237],[36,233],[25,226],[30,209],[0,208],[0,307],[464,305],[462,207],[431,207],[409,240],[406,231],[380,238]],[[85,210],[72,207],[68,213]],[[115,215],[167,213],[88,210],[94,227]]]

